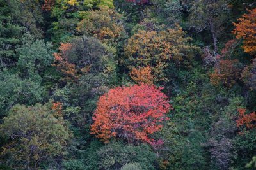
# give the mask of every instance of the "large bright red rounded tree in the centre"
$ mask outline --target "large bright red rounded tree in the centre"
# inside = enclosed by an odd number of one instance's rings
[[[166,113],[172,109],[162,88],[154,85],[116,87],[99,98],[93,115],[92,134],[102,141],[110,138],[154,142],[150,134],[163,127]]]

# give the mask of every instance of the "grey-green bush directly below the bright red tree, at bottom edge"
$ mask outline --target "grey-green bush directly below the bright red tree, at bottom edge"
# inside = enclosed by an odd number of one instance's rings
[[[91,154],[93,155],[88,155],[86,162],[94,166],[88,166],[88,169],[120,169],[132,162],[136,162],[141,169],[155,169],[156,154],[145,144],[133,146],[122,142],[111,142]]]

